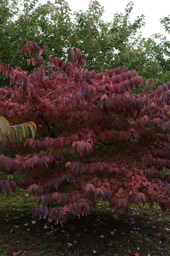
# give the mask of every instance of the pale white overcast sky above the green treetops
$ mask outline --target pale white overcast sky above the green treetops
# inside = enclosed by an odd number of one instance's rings
[[[41,2],[41,1],[40,1]],[[86,11],[90,0],[67,0],[72,11],[82,9]],[[111,21],[117,11],[124,13],[125,7],[130,0],[98,0],[105,8],[104,21]],[[150,37],[154,33],[161,33],[170,40],[170,35],[163,30],[159,19],[170,15],[170,0],[132,0],[133,10],[130,13],[130,21],[137,16],[145,15],[145,27],[141,29],[143,37]]]

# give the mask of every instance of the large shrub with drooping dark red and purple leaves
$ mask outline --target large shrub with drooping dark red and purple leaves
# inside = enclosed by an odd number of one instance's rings
[[[136,95],[143,78],[134,70],[88,71],[77,48],[69,64],[50,55],[45,65],[45,47],[33,41],[23,51],[33,73],[0,64],[10,77],[0,88],[1,162],[10,173],[1,192],[28,188],[37,195],[32,214],[60,224],[87,215],[97,198],[120,213],[139,202],[170,210],[170,184],[160,178],[170,168],[170,82],[154,91],[148,79]]]

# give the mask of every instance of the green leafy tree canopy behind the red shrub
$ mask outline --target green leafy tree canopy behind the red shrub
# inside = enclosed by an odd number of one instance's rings
[[[144,80],[153,78],[157,85],[170,75],[170,45],[165,37],[142,37],[140,28],[145,25],[143,14],[130,22],[133,3],[129,2],[124,14],[113,14],[111,22],[104,22],[104,7],[91,1],[87,11],[72,12],[65,0],[0,0],[0,61],[23,70],[33,71],[27,59],[20,53],[27,41],[35,41],[47,47],[46,57],[53,54],[69,60],[69,50],[79,48],[86,59],[87,68],[101,72],[117,66],[135,69]],[[169,32],[169,19],[161,23]],[[160,43],[154,41],[161,39]],[[48,65],[48,62],[47,62]],[[2,84],[7,83],[4,77]]]

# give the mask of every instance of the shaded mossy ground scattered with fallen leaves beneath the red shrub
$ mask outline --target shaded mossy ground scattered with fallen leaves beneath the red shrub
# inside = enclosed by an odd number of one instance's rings
[[[24,190],[0,195],[0,256],[170,256],[170,212],[157,204],[117,215],[101,200],[63,227],[31,216],[34,205]]]

